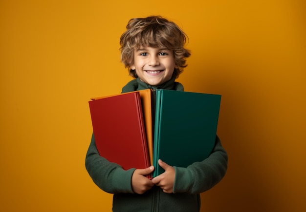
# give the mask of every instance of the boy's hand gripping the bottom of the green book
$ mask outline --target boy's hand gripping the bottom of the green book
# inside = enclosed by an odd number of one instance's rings
[[[152,182],[156,186],[159,186],[164,193],[173,193],[175,169],[167,163],[163,162],[161,159],[158,160],[158,164],[165,170],[165,172],[154,177]]]

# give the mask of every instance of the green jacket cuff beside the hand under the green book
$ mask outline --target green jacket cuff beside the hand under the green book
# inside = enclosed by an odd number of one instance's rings
[[[189,193],[194,185],[195,179],[193,174],[187,168],[175,168],[175,182],[173,185],[173,193]]]

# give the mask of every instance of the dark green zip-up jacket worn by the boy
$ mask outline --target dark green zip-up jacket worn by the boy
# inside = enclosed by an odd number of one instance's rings
[[[143,89],[170,89],[183,91],[182,84],[172,78],[158,87],[151,87],[137,79],[131,80],[122,92]],[[187,168],[175,168],[173,193],[164,193],[154,186],[144,194],[136,194],[131,188],[131,176],[135,169],[123,170],[118,164],[101,157],[94,136],[86,155],[86,169],[94,183],[107,193],[113,193],[113,212],[199,212],[200,195],[214,187],[227,170],[227,154],[219,137],[208,158]]]

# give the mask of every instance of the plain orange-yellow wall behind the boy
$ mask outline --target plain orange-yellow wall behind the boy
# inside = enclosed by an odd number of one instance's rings
[[[85,169],[87,101],[131,78],[119,37],[162,15],[189,36],[178,81],[222,95],[229,169],[202,211],[302,212],[306,188],[305,0],[2,0],[0,211],[110,211]]]

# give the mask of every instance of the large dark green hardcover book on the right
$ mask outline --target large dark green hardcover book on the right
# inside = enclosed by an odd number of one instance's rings
[[[207,158],[215,146],[221,96],[156,90],[153,177],[164,170],[158,159],[187,167]]]

